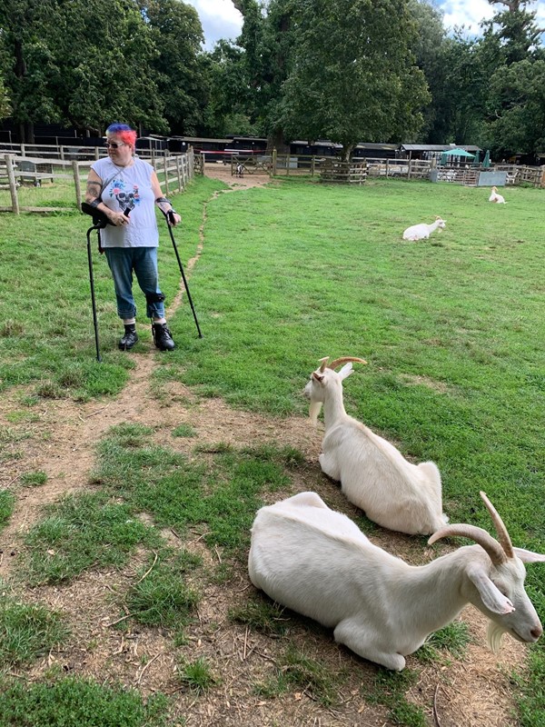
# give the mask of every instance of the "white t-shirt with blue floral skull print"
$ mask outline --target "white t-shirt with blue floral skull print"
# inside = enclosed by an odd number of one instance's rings
[[[115,212],[130,209],[129,224],[107,224],[101,231],[103,247],[157,247],[159,230],[152,189],[154,167],[134,157],[130,166],[116,166],[109,156],[91,164],[104,185],[101,201]]]

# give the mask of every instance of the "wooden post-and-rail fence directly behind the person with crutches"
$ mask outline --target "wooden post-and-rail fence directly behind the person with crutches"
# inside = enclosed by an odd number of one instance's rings
[[[59,147],[55,147],[57,150]],[[64,147],[65,148],[65,147]],[[25,151],[28,151],[26,148]],[[97,150],[98,151],[98,150]],[[101,150],[102,151],[102,150]],[[138,154],[141,157],[141,154]],[[163,194],[168,196],[183,190],[188,180],[194,175],[193,148],[185,154],[162,155],[149,154],[148,161],[153,164],[159,177]],[[54,158],[50,154],[45,157],[18,156],[14,153],[4,154],[0,158],[0,189],[9,189],[11,204],[0,205],[0,212],[59,212],[60,207],[29,207],[20,204],[19,190],[25,183],[41,186],[45,182],[54,184],[55,180],[74,182],[75,204],[81,210],[83,200],[82,183],[85,182],[94,156],[86,160]]]

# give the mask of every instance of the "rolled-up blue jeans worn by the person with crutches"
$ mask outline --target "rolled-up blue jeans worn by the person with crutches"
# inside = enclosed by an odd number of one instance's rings
[[[104,253],[114,277],[117,314],[124,320],[136,316],[133,297],[133,271],[146,296],[148,318],[164,318],[163,301],[150,303],[148,294],[161,294],[157,275],[156,247],[106,247]]]

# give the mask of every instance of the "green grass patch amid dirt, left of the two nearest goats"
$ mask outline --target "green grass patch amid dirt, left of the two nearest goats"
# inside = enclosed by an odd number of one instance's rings
[[[150,513],[159,527],[183,535],[190,525],[206,531],[204,542],[244,557],[253,516],[263,492],[276,492],[298,466],[292,448],[214,449],[209,465],[191,463],[183,454],[149,443],[151,429],[114,427],[100,445],[94,483],[122,495],[134,512]]]

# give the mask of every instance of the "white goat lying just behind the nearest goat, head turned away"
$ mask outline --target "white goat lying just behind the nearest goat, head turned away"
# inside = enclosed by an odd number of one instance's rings
[[[321,359],[304,390],[311,400],[309,414],[314,425],[323,403],[322,472],[340,481],[348,500],[382,527],[423,535],[442,528],[448,518],[442,513],[437,465],[407,462],[390,442],[345,412],[342,380],[353,373],[352,361],[365,364],[363,359],[327,361]],[[345,364],[341,371],[335,372],[341,364]]]

